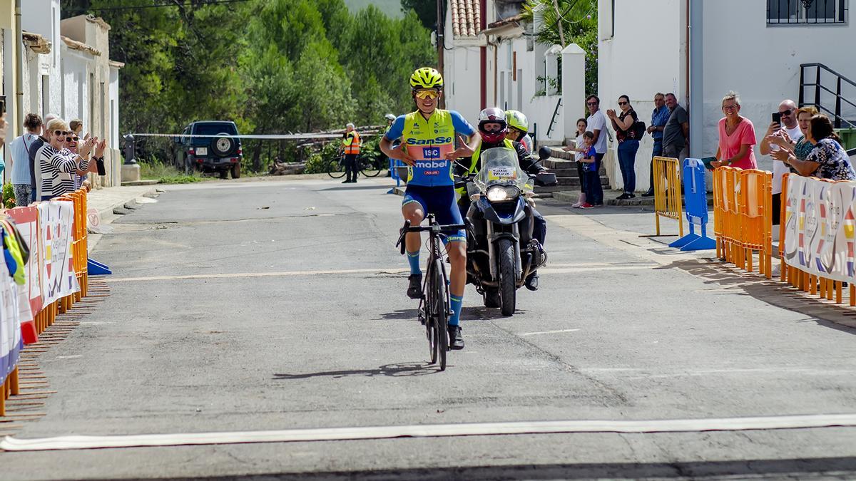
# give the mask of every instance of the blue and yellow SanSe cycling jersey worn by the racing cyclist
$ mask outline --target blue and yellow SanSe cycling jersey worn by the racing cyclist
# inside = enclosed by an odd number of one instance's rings
[[[416,160],[408,168],[407,185],[438,187],[455,185],[452,161],[445,156],[455,150],[455,134],[469,137],[476,129],[455,110],[434,110],[425,120],[419,111],[398,116],[384,137],[401,138],[407,152]]]

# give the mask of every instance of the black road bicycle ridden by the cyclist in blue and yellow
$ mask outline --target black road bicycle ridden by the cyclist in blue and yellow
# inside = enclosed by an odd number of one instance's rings
[[[446,276],[446,265],[443,263],[443,252],[440,250],[441,231],[467,229],[464,224],[440,225],[434,220],[434,214],[428,214],[428,225],[412,227],[410,221],[404,221],[401,235],[395,246],[401,246],[404,255],[404,237],[408,232],[427,232],[428,267],[425,270],[422,283],[422,297],[419,299],[419,322],[425,326],[428,336],[428,349],[431,364],[440,362],[440,371],[446,370],[446,352],[449,351],[449,316],[452,315],[449,303],[449,277]]]

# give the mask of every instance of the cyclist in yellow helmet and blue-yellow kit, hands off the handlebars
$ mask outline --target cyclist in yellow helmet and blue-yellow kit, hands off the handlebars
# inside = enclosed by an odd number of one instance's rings
[[[437,223],[463,223],[461,212],[455,205],[455,180],[452,173],[456,158],[473,155],[481,137],[476,129],[455,110],[437,109],[443,95],[443,76],[434,68],[418,68],[410,76],[416,110],[398,116],[380,141],[380,148],[390,158],[407,163],[407,191],[401,201],[401,215],[411,225],[419,225],[429,213]],[[467,137],[467,139],[464,138]],[[455,137],[460,146],[455,149]],[[392,143],[401,138],[401,145]],[[464,229],[447,233],[446,251],[452,264],[449,281],[449,298],[452,316],[449,318],[449,347],[462,349],[461,301],[467,283],[467,235]],[[407,234],[407,262],[410,264],[407,296],[419,299],[422,290],[422,271],[419,269],[419,247],[422,246],[418,232]]]

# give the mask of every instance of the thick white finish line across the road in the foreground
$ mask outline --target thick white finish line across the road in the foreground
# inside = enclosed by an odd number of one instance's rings
[[[856,414],[810,414],[719,419],[656,419],[523,421],[457,425],[401,425],[318,428],[284,431],[202,432],[130,436],[59,436],[18,439],[6,436],[0,449],[47,451],[68,449],[142,448],[253,442],[309,442],[389,439],[395,437],[502,436],[586,432],[653,433],[701,431],[756,431],[856,427]]]

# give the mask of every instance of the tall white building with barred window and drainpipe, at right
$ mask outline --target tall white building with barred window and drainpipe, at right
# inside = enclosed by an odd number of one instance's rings
[[[856,79],[849,3],[598,0],[601,107],[617,110],[618,96],[626,94],[640,119],[650,123],[654,94],[675,92],[690,114],[691,156],[708,157],[716,153],[722,97],[734,91],[760,142],[778,104],[785,98],[799,102],[800,64],[823,63]],[[835,90],[836,80],[823,76],[823,86]],[[805,88],[805,104],[814,104],[813,92]],[[856,103],[856,89],[843,89],[842,95]],[[821,104],[831,110],[830,99],[821,98]],[[856,118],[846,108],[842,115]],[[651,148],[651,136],[645,135],[636,156],[638,190],[648,187]],[[759,168],[772,169],[772,160],[760,156],[757,146],[755,154]],[[609,177],[621,187],[617,165]]]

